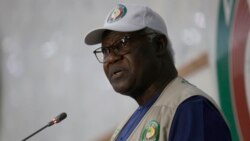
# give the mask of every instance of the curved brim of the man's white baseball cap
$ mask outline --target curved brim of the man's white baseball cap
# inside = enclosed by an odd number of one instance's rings
[[[99,44],[102,41],[102,35],[106,30],[117,31],[117,32],[133,32],[137,30],[141,30],[145,27],[138,25],[119,25],[119,26],[106,26],[102,28],[97,28],[91,32],[89,32],[85,36],[85,43],[88,45]]]

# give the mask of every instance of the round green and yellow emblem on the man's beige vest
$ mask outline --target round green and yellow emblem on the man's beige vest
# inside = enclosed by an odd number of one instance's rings
[[[158,141],[160,135],[160,124],[151,120],[143,129],[141,141]]]

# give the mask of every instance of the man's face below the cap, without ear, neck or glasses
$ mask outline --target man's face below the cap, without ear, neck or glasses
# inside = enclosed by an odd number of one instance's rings
[[[131,33],[109,32],[104,36],[102,45],[111,47],[126,35],[131,36]],[[123,55],[117,55],[111,49],[103,68],[116,92],[135,97],[157,78],[159,59],[155,55],[154,44],[146,34],[133,34],[123,47],[128,50]]]

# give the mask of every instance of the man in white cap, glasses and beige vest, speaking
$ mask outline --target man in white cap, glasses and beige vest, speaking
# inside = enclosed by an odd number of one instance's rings
[[[115,131],[117,141],[229,141],[215,102],[178,76],[163,19],[146,6],[119,4],[85,37],[113,89],[138,109]]]

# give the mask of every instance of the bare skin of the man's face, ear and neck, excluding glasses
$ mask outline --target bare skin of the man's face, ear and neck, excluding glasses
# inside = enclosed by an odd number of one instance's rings
[[[110,46],[130,34],[106,32],[102,45]],[[168,58],[166,45],[165,36],[155,37],[152,40],[142,36],[128,42],[126,47],[130,52],[125,55],[116,55],[111,51],[103,68],[113,89],[134,98],[139,105],[145,104],[157,92],[161,92],[177,76],[173,63],[166,60]]]

